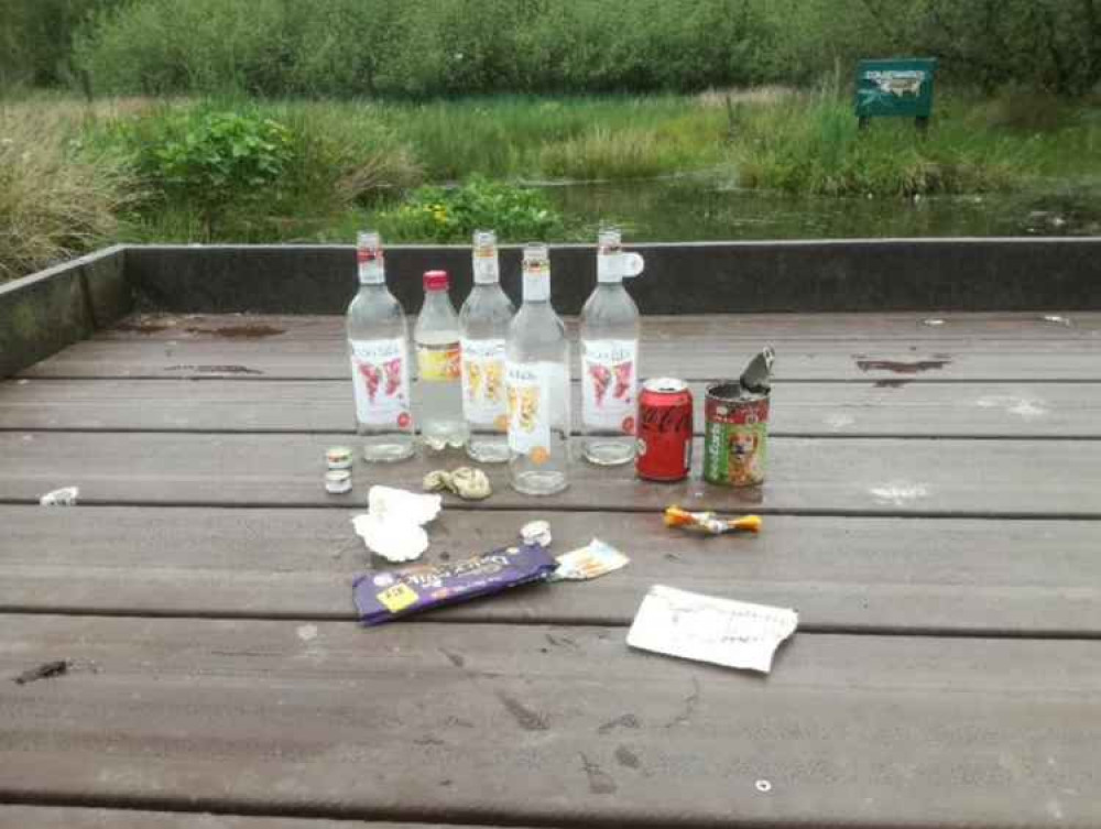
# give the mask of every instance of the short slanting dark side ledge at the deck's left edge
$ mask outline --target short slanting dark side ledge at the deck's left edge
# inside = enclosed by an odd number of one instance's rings
[[[132,306],[122,247],[0,285],[0,378],[111,325]]]

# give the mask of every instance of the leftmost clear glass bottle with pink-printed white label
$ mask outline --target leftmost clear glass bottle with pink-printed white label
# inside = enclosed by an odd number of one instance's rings
[[[413,455],[408,325],[386,287],[379,234],[359,234],[359,293],[348,306],[348,357],[356,397],[356,432],[363,458],[403,460]]]

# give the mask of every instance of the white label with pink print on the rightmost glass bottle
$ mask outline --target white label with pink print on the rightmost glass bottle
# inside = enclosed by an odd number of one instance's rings
[[[581,418],[586,426],[633,435],[637,340],[581,342]]]

